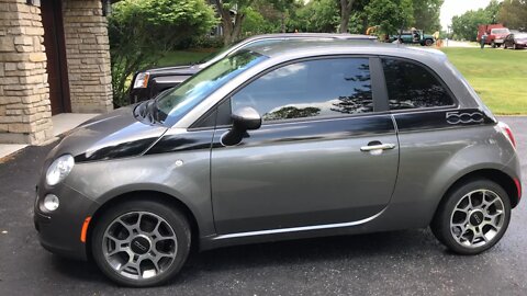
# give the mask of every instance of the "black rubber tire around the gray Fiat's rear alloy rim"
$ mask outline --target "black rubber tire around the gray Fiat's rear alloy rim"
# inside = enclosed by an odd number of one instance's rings
[[[495,234],[493,238],[489,240],[489,242],[485,242],[483,246],[480,246],[480,247],[476,247],[476,246],[467,247],[461,244],[455,239],[453,237],[455,235],[450,230],[450,223],[451,223],[451,219],[453,219],[452,213],[456,206],[458,205],[458,203],[461,203],[461,200],[466,198],[467,194],[474,191],[479,191],[479,190],[491,191],[492,193],[495,193],[497,195],[497,197],[501,200],[503,204],[504,216],[503,216],[503,220],[501,221],[502,225],[500,230],[497,231],[497,234]],[[496,196],[494,196],[494,198]],[[469,223],[472,221],[469,218],[470,216],[467,215],[467,225],[469,225]],[[449,193],[447,193],[447,196],[445,196],[444,201],[441,202],[441,204],[439,205],[436,212],[436,215],[434,216],[434,219],[430,224],[430,229],[433,234],[436,236],[436,238],[451,251],[459,254],[478,254],[483,251],[486,251],[487,249],[492,248],[494,244],[496,244],[496,242],[500,241],[500,239],[503,237],[503,235],[507,230],[509,220],[511,220],[511,200],[507,193],[505,192],[505,190],[503,190],[502,186],[500,186],[493,181],[490,181],[486,179],[479,179],[479,180],[470,180],[463,184],[460,184],[453,187],[452,190],[450,190]],[[482,230],[483,230],[483,227],[484,226],[481,226]]]

